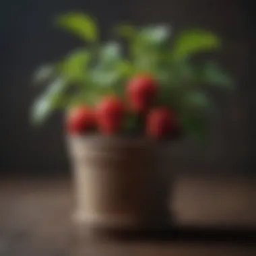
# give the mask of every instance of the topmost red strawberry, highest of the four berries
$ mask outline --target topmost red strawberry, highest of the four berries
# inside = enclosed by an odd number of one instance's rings
[[[151,75],[139,74],[133,77],[127,85],[129,104],[136,112],[148,109],[157,92],[157,83]]]

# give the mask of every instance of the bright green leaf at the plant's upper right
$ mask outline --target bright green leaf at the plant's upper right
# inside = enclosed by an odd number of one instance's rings
[[[174,42],[172,54],[176,60],[186,59],[197,53],[220,49],[220,38],[206,30],[187,30],[181,32]]]

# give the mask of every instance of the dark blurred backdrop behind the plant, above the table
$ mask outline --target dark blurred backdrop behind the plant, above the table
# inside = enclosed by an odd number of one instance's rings
[[[81,41],[55,30],[58,13],[83,10],[106,28],[117,22],[168,22],[175,30],[200,26],[217,32],[224,50],[217,58],[237,82],[237,90],[218,96],[222,111],[213,121],[203,152],[183,143],[175,155],[177,170],[253,173],[256,167],[255,8],[253,1],[232,0],[9,0],[0,3],[0,172],[65,173],[61,115],[40,129],[28,113],[39,90],[31,76],[41,63],[55,61]]]

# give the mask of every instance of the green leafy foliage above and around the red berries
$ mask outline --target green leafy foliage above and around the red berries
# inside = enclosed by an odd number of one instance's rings
[[[114,31],[127,40],[127,49],[123,49],[117,41],[99,42],[100,30],[90,15],[66,13],[59,15],[55,23],[82,38],[84,47],[36,71],[34,82],[46,88],[34,102],[34,123],[42,123],[56,109],[94,104],[104,94],[123,97],[127,79],[147,72],[161,86],[159,102],[177,110],[187,134],[203,141],[205,114],[214,109],[205,89],[232,88],[230,77],[216,63],[193,61],[199,53],[220,49],[221,40],[216,34],[190,29],[173,37],[170,27],[164,24],[139,28],[122,24]]]

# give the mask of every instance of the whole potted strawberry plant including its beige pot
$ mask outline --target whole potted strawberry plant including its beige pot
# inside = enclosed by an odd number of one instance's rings
[[[90,15],[59,15],[56,24],[84,46],[36,71],[36,82],[48,87],[32,119],[40,124],[53,110],[65,111],[75,219],[103,228],[159,223],[170,189],[157,166],[159,148],[183,137],[201,143],[214,109],[207,90],[230,88],[218,65],[194,58],[219,50],[220,38],[201,29],[172,38],[165,25],[123,24],[113,31],[126,39],[124,49],[117,40],[100,42]]]

